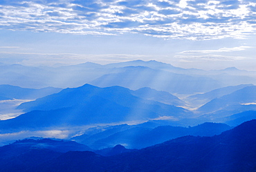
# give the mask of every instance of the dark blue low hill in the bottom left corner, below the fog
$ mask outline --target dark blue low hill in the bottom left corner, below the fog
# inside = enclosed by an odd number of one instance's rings
[[[67,140],[19,140],[0,147],[0,171],[26,171],[68,151],[91,151],[91,149]]]

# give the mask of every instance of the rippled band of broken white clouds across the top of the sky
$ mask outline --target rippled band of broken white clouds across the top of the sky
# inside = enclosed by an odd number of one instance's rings
[[[0,28],[82,35],[141,33],[165,39],[243,38],[255,32],[253,0],[3,0]]]

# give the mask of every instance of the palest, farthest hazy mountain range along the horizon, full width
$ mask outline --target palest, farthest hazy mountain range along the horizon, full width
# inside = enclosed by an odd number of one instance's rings
[[[135,80],[132,80],[133,78]],[[256,78],[255,72],[246,70],[185,69],[159,61],[142,60],[107,65],[87,62],[55,68],[2,64],[0,68],[0,84],[24,88],[31,86],[33,88],[48,86],[67,88],[82,86],[86,83],[102,87],[124,86],[132,90],[150,87],[170,93],[191,95],[224,86],[256,84]]]

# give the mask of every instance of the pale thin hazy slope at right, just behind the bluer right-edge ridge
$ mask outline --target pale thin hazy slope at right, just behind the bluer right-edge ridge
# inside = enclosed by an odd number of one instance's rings
[[[241,84],[238,86],[226,86],[223,88],[217,88],[207,93],[201,93],[186,97],[185,101],[190,102],[190,104],[192,104],[193,106],[202,106],[203,104],[210,102],[212,99],[222,97],[223,95],[228,95],[246,86],[253,86],[253,84]]]

